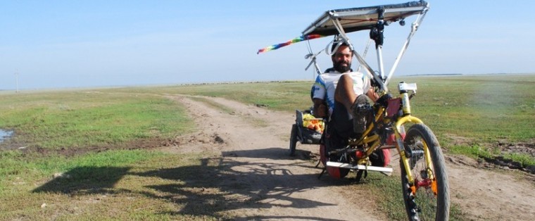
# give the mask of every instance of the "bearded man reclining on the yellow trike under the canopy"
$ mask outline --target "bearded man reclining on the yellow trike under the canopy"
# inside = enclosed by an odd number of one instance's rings
[[[335,48],[336,43],[332,50]],[[368,75],[352,72],[353,53],[345,42],[331,58],[333,68],[318,75],[312,87],[314,115],[317,118],[330,117],[328,133],[335,138],[358,137],[365,130],[367,115],[360,107],[367,104],[367,98],[377,101],[379,96],[374,92]]]

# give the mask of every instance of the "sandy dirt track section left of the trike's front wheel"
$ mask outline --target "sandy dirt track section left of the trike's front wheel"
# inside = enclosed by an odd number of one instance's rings
[[[178,138],[168,151],[215,151],[229,168],[218,176],[218,182],[232,187],[225,191],[232,192],[229,202],[234,206],[221,213],[238,220],[386,220],[372,201],[345,200],[341,182],[327,175],[317,179],[320,169],[310,159],[317,145],[298,146],[299,157],[288,156],[294,115],[213,97],[201,99],[232,112],[192,96],[172,99],[189,110],[200,132]],[[351,192],[355,194],[365,196]]]

